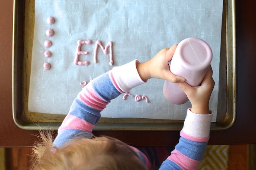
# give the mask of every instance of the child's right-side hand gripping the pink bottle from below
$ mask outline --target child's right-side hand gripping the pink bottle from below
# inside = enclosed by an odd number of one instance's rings
[[[201,86],[192,87],[186,82],[178,83],[178,86],[186,93],[192,107],[191,111],[197,114],[209,114],[209,100],[214,87],[212,67],[210,66],[201,83]]]

